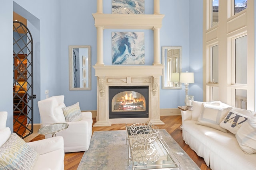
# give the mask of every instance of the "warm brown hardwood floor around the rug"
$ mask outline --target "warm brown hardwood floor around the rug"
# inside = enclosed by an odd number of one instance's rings
[[[161,116],[161,120],[165,125],[157,125],[159,129],[166,129],[166,131],[173,137],[173,139],[182,147],[182,149],[196,162],[201,170],[210,170],[206,166],[204,159],[199,157],[182,139],[182,130],[180,125],[182,124],[181,116]],[[93,124],[96,122],[96,118],[93,118]],[[92,127],[94,131],[114,131],[114,130],[125,130],[125,124],[113,124],[111,127]],[[38,135],[31,141],[38,141],[44,139],[44,135]],[[64,169],[65,170],[76,170],[84,152],[70,152],[65,153],[64,158]]]

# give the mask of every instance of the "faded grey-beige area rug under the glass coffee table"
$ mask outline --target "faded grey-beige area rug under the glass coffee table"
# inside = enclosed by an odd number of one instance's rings
[[[165,129],[160,129],[159,134],[181,162],[182,170],[200,170]],[[126,131],[94,131],[77,170],[132,170],[131,162],[128,165]]]

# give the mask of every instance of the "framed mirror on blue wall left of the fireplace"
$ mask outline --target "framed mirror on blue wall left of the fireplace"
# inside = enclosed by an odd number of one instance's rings
[[[91,46],[69,46],[69,90],[91,90]]]

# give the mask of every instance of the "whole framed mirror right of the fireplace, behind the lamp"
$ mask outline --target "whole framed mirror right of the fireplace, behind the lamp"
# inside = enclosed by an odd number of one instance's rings
[[[181,89],[181,46],[162,46],[162,89]]]

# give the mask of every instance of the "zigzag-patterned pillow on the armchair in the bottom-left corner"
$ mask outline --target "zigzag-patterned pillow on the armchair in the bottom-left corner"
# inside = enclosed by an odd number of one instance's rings
[[[31,170],[38,159],[38,153],[16,133],[0,147],[0,169]]]

